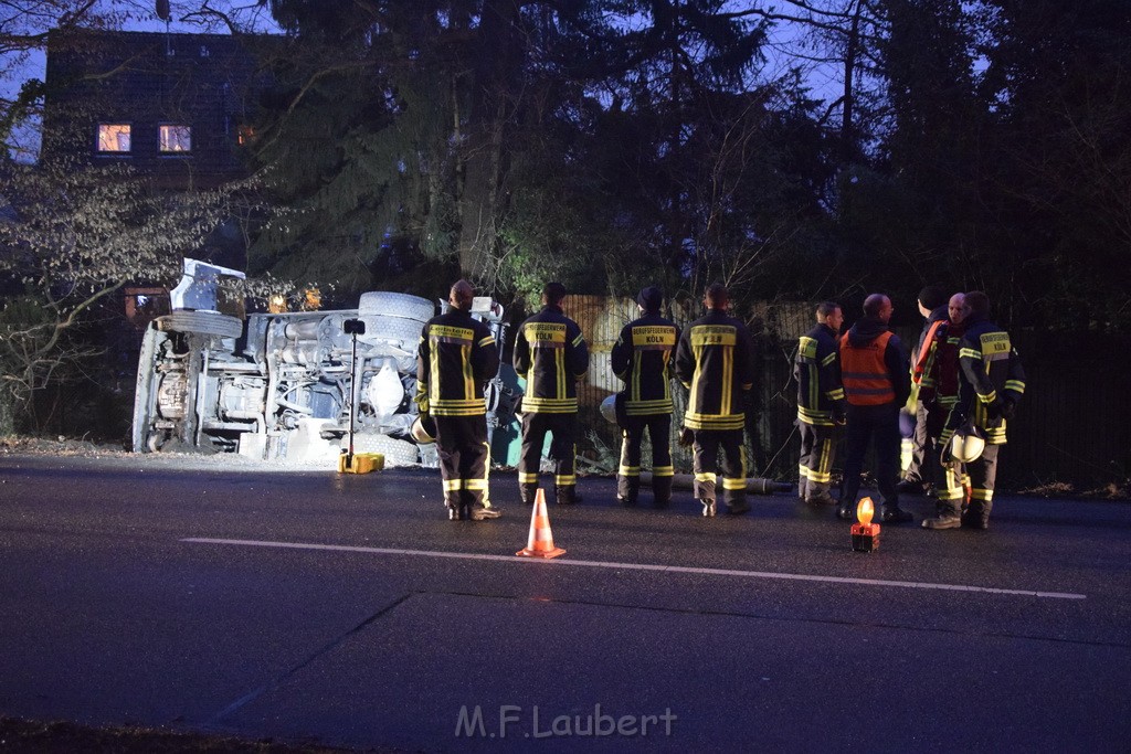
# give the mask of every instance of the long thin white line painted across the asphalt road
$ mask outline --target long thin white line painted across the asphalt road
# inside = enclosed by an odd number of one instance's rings
[[[357,547],[353,545],[318,545],[300,541],[262,541],[258,539],[213,539],[189,537],[181,541],[198,545],[238,545],[243,547],[274,547],[278,549],[321,549],[337,553],[370,553],[373,555],[407,555],[413,557],[452,557],[465,561],[498,561],[512,563],[538,562],[513,555],[485,555],[478,553],[443,553],[430,549],[394,549],[389,547]],[[784,581],[817,581],[822,583],[851,583],[866,587],[897,587],[901,589],[934,589],[939,591],[973,591],[987,595],[1018,597],[1041,597],[1044,599],[1087,599],[1087,595],[1063,591],[1031,591],[1028,589],[998,589],[995,587],[973,587],[957,583],[930,583],[921,581],[888,581],[884,579],[853,579],[849,577],[822,577],[806,573],[774,573],[770,571],[735,571],[729,569],[697,569],[683,565],[651,565],[648,563],[611,563],[606,561],[569,561],[555,558],[541,561],[554,565],[576,565],[593,569],[618,569],[627,571],[661,571],[664,573],[693,573],[699,575],[739,577],[745,579],[778,579]]]

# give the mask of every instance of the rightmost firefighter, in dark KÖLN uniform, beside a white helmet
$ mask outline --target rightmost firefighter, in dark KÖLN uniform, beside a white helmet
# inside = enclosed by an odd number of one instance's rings
[[[993,488],[998,477],[998,451],[1005,444],[1005,424],[1013,418],[1025,395],[1025,370],[1009,333],[990,320],[990,298],[981,291],[966,294],[966,331],[958,344],[958,404],[947,428],[969,425],[985,440],[982,454],[965,465],[969,479],[969,505],[965,512],[961,471],[948,463],[947,488],[938,501],[939,514],[923,521],[927,529],[990,528]]]

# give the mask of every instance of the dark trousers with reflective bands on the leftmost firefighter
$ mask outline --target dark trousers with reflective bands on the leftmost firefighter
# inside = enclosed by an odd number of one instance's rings
[[[490,508],[486,416],[437,416],[435,445],[448,508]]]

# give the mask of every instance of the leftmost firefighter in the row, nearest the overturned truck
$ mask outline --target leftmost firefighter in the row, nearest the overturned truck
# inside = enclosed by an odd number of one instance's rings
[[[475,292],[467,280],[451,286],[447,314],[421,332],[416,362],[421,418],[435,421],[435,442],[448,517],[458,521],[499,518],[487,494],[487,445],[483,385],[499,372],[499,348],[483,322],[470,314]]]

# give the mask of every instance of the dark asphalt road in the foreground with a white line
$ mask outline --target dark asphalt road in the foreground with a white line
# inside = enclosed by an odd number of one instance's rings
[[[1128,751],[1131,505],[705,520],[608,479],[449,522],[439,474],[0,458],[0,713],[408,751]],[[917,517],[927,500],[905,506]]]

